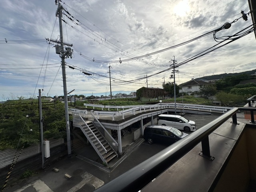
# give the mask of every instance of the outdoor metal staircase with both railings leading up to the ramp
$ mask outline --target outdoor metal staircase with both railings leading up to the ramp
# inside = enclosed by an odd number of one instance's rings
[[[96,126],[91,121],[85,121],[79,112],[73,113],[73,126],[79,127],[94,150],[100,156],[102,162],[108,165],[108,162],[117,157],[117,142],[112,138],[108,131],[96,120]],[[94,120],[95,121],[95,120]]]

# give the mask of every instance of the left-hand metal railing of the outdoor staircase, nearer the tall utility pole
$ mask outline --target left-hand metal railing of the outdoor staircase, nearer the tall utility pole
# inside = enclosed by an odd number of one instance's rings
[[[106,161],[106,153],[107,150],[104,148],[100,140],[95,136],[94,132],[91,130],[91,128],[88,126],[88,124],[85,122],[85,120],[80,116],[79,112],[72,112],[73,114],[73,125],[79,127],[90,144],[92,144],[92,147],[94,150],[98,153],[100,156],[101,160],[108,164]]]

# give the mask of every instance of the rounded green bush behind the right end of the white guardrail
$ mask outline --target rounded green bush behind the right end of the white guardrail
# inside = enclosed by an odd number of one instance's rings
[[[245,99],[243,96],[226,93],[223,91],[219,92],[215,96],[217,100],[221,102],[222,106],[235,106],[245,103]]]

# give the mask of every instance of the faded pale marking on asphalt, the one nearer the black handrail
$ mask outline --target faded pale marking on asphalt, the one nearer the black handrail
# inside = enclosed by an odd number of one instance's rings
[[[76,192],[80,188],[82,188],[85,184],[91,184],[94,186],[95,189],[99,188],[100,186],[104,185],[104,181],[100,180],[99,178],[95,177],[94,175],[84,172],[84,174],[81,175],[83,180],[78,183],[76,186],[72,187],[67,192]]]

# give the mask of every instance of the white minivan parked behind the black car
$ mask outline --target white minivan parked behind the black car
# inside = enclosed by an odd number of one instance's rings
[[[196,122],[188,120],[180,115],[158,115],[158,125],[172,126],[184,131],[196,130]]]

